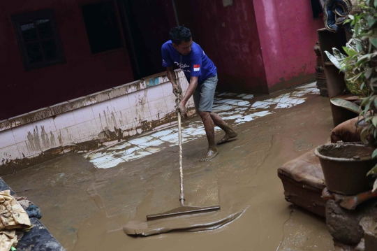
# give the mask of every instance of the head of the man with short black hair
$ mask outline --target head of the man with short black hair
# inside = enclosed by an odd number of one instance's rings
[[[179,53],[185,56],[190,54],[191,46],[193,45],[190,29],[183,26],[177,26],[170,30],[169,36],[174,48]]]

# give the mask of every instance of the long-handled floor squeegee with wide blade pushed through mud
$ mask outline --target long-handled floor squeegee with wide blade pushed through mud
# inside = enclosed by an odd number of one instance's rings
[[[179,103],[179,102],[177,102]],[[196,213],[207,213],[216,210],[220,210],[220,206],[208,206],[208,207],[197,207],[197,206],[184,206],[184,190],[183,190],[183,166],[182,166],[182,127],[181,127],[181,113],[178,113],[178,136],[179,136],[179,171],[181,173],[180,178],[180,186],[181,186],[181,195],[180,195],[180,203],[181,206],[178,208],[174,208],[169,210],[165,213],[158,213],[155,215],[147,215],[148,220],[158,220],[166,217],[175,217],[180,215],[192,215]]]

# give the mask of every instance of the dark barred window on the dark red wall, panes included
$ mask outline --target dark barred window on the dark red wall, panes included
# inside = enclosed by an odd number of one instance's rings
[[[65,62],[54,10],[15,14],[12,22],[26,71]]]

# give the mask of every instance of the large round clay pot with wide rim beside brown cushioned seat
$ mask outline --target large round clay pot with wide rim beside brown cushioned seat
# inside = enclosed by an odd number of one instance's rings
[[[367,173],[377,164],[371,155],[374,148],[356,143],[320,145],[315,154],[325,176],[327,189],[353,195],[371,189],[373,180]]]

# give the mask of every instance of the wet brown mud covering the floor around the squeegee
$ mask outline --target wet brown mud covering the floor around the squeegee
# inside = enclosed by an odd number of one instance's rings
[[[126,236],[128,221],[178,206],[177,146],[114,168],[96,169],[72,154],[3,177],[40,206],[42,222],[71,250],[333,250],[325,221],[284,200],[276,170],[329,140],[328,99],[311,95],[235,127],[239,137],[198,162],[207,141],[183,145],[186,202],[246,211],[214,231]],[[217,134],[220,138],[223,134]],[[220,199],[219,199],[220,198]],[[225,199],[223,199],[225,198]]]

